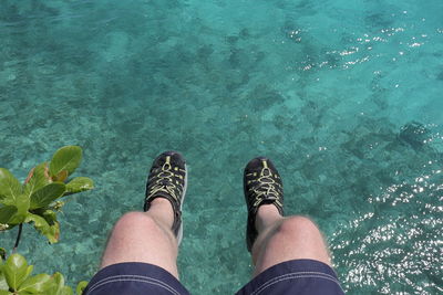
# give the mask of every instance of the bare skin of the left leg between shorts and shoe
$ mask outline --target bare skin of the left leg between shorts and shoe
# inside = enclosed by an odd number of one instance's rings
[[[147,212],[124,214],[111,233],[101,268],[121,262],[145,262],[178,278],[178,245],[171,230],[173,222],[171,202],[164,198],[154,199]]]

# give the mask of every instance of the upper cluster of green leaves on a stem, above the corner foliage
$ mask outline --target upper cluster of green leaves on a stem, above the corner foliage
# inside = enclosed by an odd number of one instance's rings
[[[93,181],[86,177],[68,181],[81,160],[81,147],[62,147],[50,162],[32,168],[23,185],[8,169],[0,168],[0,231],[19,225],[14,249],[19,245],[23,223],[33,222],[50,243],[59,241],[56,212],[64,204],[59,199],[93,188]]]

